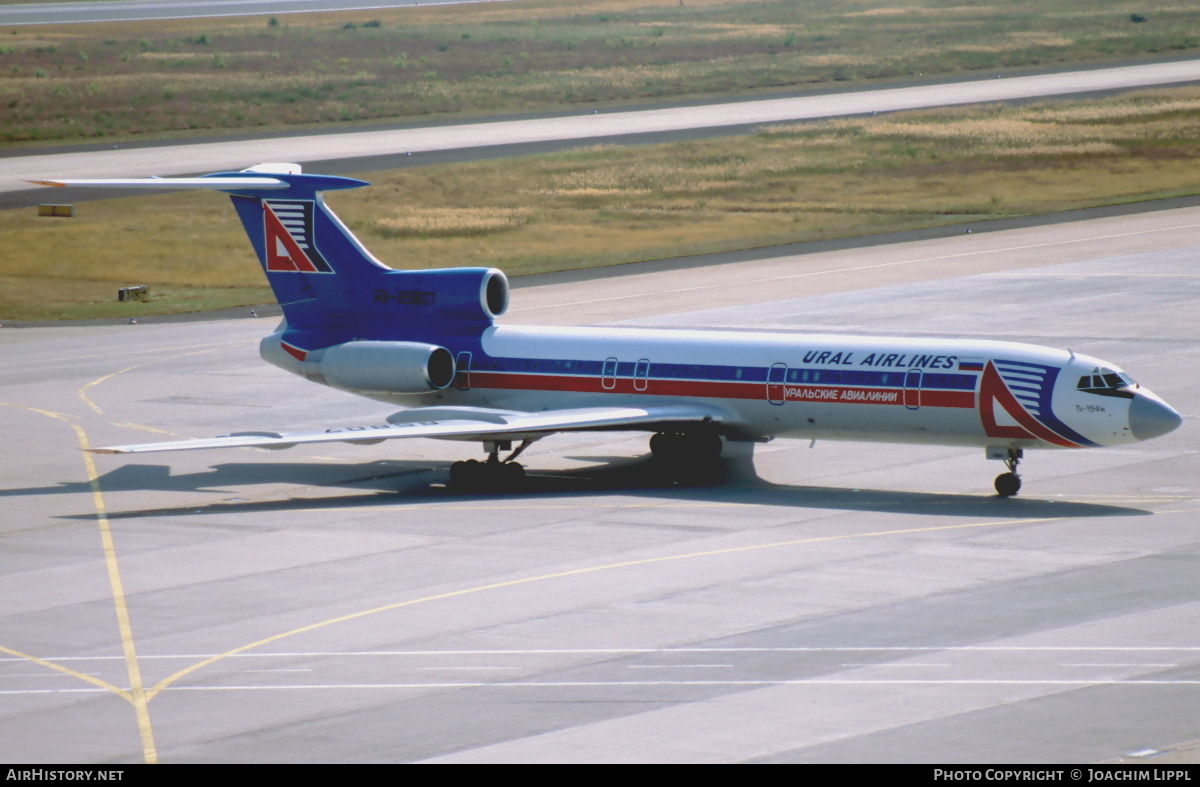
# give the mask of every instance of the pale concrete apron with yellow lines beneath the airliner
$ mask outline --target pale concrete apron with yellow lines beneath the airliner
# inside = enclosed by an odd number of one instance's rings
[[[414,440],[97,456],[377,421],[271,325],[0,329],[0,761],[1088,762],[1200,738],[1200,209],[517,290],[512,324],[988,336],[1184,425],[998,463],[775,441],[710,487],[559,435],[462,495]],[[247,264],[253,264],[247,258]],[[577,277],[576,277],[577,278]]]

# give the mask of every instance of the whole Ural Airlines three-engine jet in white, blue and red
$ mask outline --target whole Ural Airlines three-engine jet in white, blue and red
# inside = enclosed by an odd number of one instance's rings
[[[1025,449],[1124,445],[1181,423],[1112,364],[1033,344],[497,325],[509,302],[503,272],[388,268],[322,198],[367,184],[296,164],[38,182],[229,193],[283,308],[262,356],[408,408],[378,426],[95,449],[102,453],[475,440],[487,461],[455,462],[451,483],[503,488],[524,474],[514,459],[554,432],[649,432],[655,461],[680,473],[712,463],[730,440],[875,440],[983,447],[1007,464],[996,492],[1008,497],[1020,489]]]

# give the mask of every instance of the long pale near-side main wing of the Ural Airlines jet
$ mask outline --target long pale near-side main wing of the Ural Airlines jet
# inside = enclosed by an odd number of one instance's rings
[[[421,419],[421,420],[418,420]],[[430,407],[402,410],[390,423],[332,427],[313,432],[238,432],[224,437],[167,443],[142,443],[88,449],[94,453],[149,453],[197,449],[290,449],[312,443],[372,445],[383,440],[428,437],[457,440],[536,439],[554,432],[656,431],[686,423],[716,423],[721,414],[695,404],[649,407],[589,407],[527,413],[473,407]]]

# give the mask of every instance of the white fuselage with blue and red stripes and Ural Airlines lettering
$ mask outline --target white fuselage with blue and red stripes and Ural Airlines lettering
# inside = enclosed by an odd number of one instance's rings
[[[492,326],[478,341],[442,343],[455,355],[454,385],[419,395],[348,390],[408,407],[521,410],[688,401],[725,413],[725,435],[748,440],[1087,447],[1178,425],[1116,366],[1013,342]],[[263,356],[302,373],[278,346],[278,334],[266,337]]]

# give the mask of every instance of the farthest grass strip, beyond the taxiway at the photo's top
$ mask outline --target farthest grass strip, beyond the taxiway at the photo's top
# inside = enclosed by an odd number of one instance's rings
[[[527,0],[0,29],[0,144],[664,101],[1187,53],[1200,5]]]

